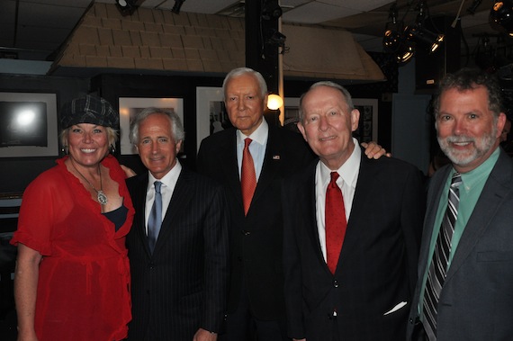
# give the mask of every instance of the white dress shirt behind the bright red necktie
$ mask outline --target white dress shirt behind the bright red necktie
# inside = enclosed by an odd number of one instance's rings
[[[353,153],[351,153],[351,156],[344,165],[340,166],[337,170],[338,175],[340,175],[337,179],[337,184],[342,190],[342,196],[344,197],[346,220],[349,220],[349,215],[351,214],[353,198],[355,197],[356,191],[356,182],[358,181],[358,173],[360,172],[360,158],[362,157],[362,151],[360,150],[358,141],[353,139],[353,142],[355,143]],[[331,172],[334,171],[330,170],[328,166],[319,161],[315,170],[315,207],[317,210],[316,219],[320,248],[324,256],[324,261],[326,261],[326,190],[331,181]]]

